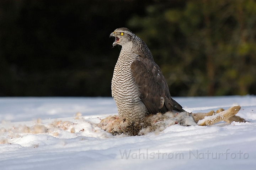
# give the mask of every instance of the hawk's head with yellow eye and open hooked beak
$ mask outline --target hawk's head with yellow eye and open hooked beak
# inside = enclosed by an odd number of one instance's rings
[[[136,36],[133,32],[131,32],[128,28],[117,28],[114,32],[110,34],[110,37],[115,37],[116,40],[113,43],[114,45],[124,45],[129,43],[133,37]]]

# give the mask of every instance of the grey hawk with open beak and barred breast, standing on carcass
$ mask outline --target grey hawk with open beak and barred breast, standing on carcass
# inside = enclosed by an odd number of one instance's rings
[[[184,111],[171,98],[161,69],[148,46],[128,28],[110,34],[122,50],[114,68],[111,90],[118,114],[129,122],[143,121],[148,114]]]

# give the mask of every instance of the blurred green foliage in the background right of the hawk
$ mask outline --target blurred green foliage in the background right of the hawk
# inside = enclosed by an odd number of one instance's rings
[[[148,44],[172,95],[256,94],[256,1],[162,2],[130,28]]]

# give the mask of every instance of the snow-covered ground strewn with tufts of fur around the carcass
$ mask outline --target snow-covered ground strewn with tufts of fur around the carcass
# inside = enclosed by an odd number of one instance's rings
[[[112,98],[0,98],[0,169],[256,168],[255,96],[174,99],[193,113],[240,105],[250,122],[112,136],[95,126],[117,114]]]

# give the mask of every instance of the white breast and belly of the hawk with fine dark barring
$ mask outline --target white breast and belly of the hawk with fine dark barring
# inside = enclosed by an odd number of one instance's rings
[[[111,86],[118,113],[128,121],[142,121],[148,113],[140,99],[140,89],[130,67],[135,57],[137,57],[136,54],[121,50],[114,68]]]

